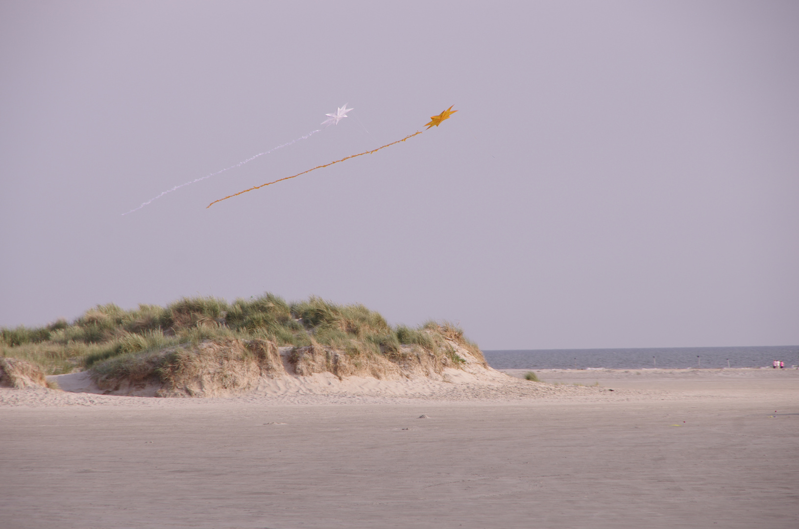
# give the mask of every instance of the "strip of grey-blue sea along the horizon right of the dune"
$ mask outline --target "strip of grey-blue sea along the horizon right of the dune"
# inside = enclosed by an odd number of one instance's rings
[[[799,345],[642,349],[535,349],[483,351],[495,369],[760,368],[773,360],[799,365]],[[729,364],[728,364],[729,360]]]

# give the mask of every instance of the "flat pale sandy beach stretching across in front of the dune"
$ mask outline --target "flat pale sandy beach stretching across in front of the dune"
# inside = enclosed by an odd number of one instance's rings
[[[2,389],[0,526],[799,527],[799,371],[538,375],[560,385]]]

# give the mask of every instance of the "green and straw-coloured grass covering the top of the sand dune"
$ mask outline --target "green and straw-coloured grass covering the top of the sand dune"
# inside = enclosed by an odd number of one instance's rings
[[[97,305],[71,323],[58,320],[37,328],[0,328],[0,356],[34,362],[56,375],[99,364],[113,368],[137,355],[147,364],[149,352],[227,338],[271,340],[279,346],[320,344],[353,355],[391,356],[402,345],[415,345],[462,363],[447,344],[449,339],[483,358],[477,345],[463,336],[463,329],[448,322],[392,327],[362,304],[335,304],[316,296],[288,303],[271,293],[232,303],[215,297],[182,298],[166,307],[140,304],[133,310]],[[113,359],[118,362],[110,362]]]

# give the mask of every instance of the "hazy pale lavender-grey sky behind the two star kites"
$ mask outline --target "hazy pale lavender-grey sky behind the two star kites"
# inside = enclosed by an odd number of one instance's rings
[[[485,349],[799,344],[797,2],[6,1],[0,71],[0,326],[269,291]]]

